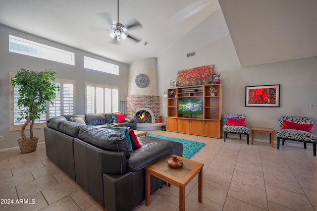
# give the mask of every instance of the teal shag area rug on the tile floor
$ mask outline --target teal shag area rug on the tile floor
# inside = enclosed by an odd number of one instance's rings
[[[188,159],[191,158],[195,153],[197,153],[202,147],[205,146],[205,143],[202,143],[202,142],[191,141],[186,139],[177,139],[177,138],[172,138],[167,136],[156,135],[152,133],[148,133],[148,136],[153,136],[160,139],[166,139],[169,141],[182,143],[184,146],[183,158],[188,158]]]

